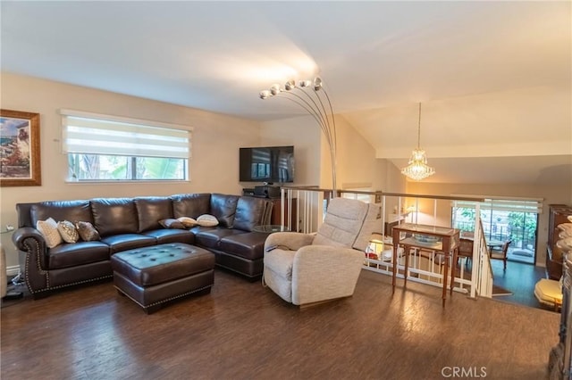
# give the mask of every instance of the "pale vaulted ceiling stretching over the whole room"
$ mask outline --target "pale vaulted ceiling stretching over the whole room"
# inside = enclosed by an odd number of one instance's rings
[[[572,182],[563,2],[10,2],[2,70],[253,120],[261,89],[320,75],[334,111],[433,182]]]

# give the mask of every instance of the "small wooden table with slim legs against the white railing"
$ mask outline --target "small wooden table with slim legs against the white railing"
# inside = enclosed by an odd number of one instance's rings
[[[391,235],[393,237],[393,272],[391,279],[393,292],[395,292],[398,271],[398,250],[400,246],[402,246],[405,251],[405,271],[403,273],[403,277],[405,279],[404,286],[407,285],[408,281],[409,251],[412,248],[442,252],[445,260],[443,265],[442,304],[443,307],[445,307],[449,271],[451,294],[453,293],[453,285],[455,283],[454,263],[457,262],[460,230],[450,227],[435,227],[403,223],[398,226],[394,226]],[[450,260],[451,255],[452,260]],[[451,265],[453,268],[450,268]]]

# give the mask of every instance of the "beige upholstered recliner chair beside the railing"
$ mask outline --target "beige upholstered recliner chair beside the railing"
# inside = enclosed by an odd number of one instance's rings
[[[284,301],[300,306],[349,297],[371,235],[380,228],[378,205],[334,198],[317,234],[268,236],[263,284]]]

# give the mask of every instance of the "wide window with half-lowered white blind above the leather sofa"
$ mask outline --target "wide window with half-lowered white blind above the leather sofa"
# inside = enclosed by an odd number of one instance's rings
[[[189,178],[192,128],[61,110],[70,181]]]

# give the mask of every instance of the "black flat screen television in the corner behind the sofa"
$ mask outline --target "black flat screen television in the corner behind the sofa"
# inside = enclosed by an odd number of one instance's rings
[[[240,148],[240,182],[294,181],[294,146]]]

